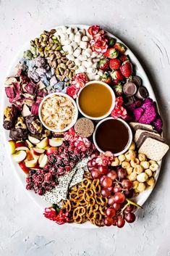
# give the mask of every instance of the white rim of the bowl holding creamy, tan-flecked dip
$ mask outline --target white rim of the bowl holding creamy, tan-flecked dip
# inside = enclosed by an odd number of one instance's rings
[[[53,96],[53,95],[66,97],[67,99],[69,99],[69,100],[72,102],[72,104],[73,104],[74,107],[75,107],[75,117],[74,117],[74,119],[73,119],[72,122],[71,122],[66,128],[64,128],[63,130],[56,130],[56,129],[52,129],[52,128],[48,127],[48,125],[46,125],[46,123],[43,122],[43,119],[42,119],[42,117],[41,117],[41,108],[42,108],[42,106],[43,106],[43,102],[45,102],[46,99],[50,98],[50,97]],[[75,123],[76,123],[76,121],[77,121],[77,117],[78,117],[77,104],[76,104],[75,100],[72,99],[72,97],[70,97],[68,94],[64,94],[64,93],[61,93],[61,92],[54,92],[54,93],[48,94],[47,96],[45,96],[45,97],[43,98],[43,100],[42,100],[42,102],[41,102],[41,104],[40,104],[40,107],[39,107],[39,109],[38,109],[38,115],[39,115],[39,118],[40,118],[40,120],[41,120],[41,123],[43,124],[44,127],[46,127],[46,128],[47,128],[48,130],[50,130],[50,131],[53,131],[54,133],[55,133],[55,132],[56,132],[56,133],[61,133],[61,132],[64,132],[64,131],[69,130],[69,128],[72,128],[72,126],[75,125]]]

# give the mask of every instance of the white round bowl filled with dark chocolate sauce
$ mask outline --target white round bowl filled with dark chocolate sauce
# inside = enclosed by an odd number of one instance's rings
[[[132,130],[121,118],[107,117],[95,127],[93,142],[99,152],[124,154],[132,144]]]

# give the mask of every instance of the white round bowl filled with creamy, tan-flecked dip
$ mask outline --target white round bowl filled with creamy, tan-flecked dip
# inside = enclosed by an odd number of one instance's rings
[[[38,115],[41,123],[53,132],[64,132],[75,125],[78,117],[77,105],[69,95],[48,94],[42,100]]]

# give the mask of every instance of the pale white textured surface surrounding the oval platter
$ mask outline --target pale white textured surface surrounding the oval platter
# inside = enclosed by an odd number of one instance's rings
[[[64,23],[100,24],[121,38],[143,64],[170,141],[169,11],[169,0],[0,0],[1,88],[15,52],[41,30]],[[3,142],[0,148],[1,256],[170,255],[169,154],[135,224],[83,230],[43,218],[9,165]]]

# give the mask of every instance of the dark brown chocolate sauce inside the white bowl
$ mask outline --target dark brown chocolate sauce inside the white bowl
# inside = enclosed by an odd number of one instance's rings
[[[98,126],[95,141],[103,152],[113,154],[122,152],[129,142],[129,130],[124,123],[116,119],[106,120]]]

